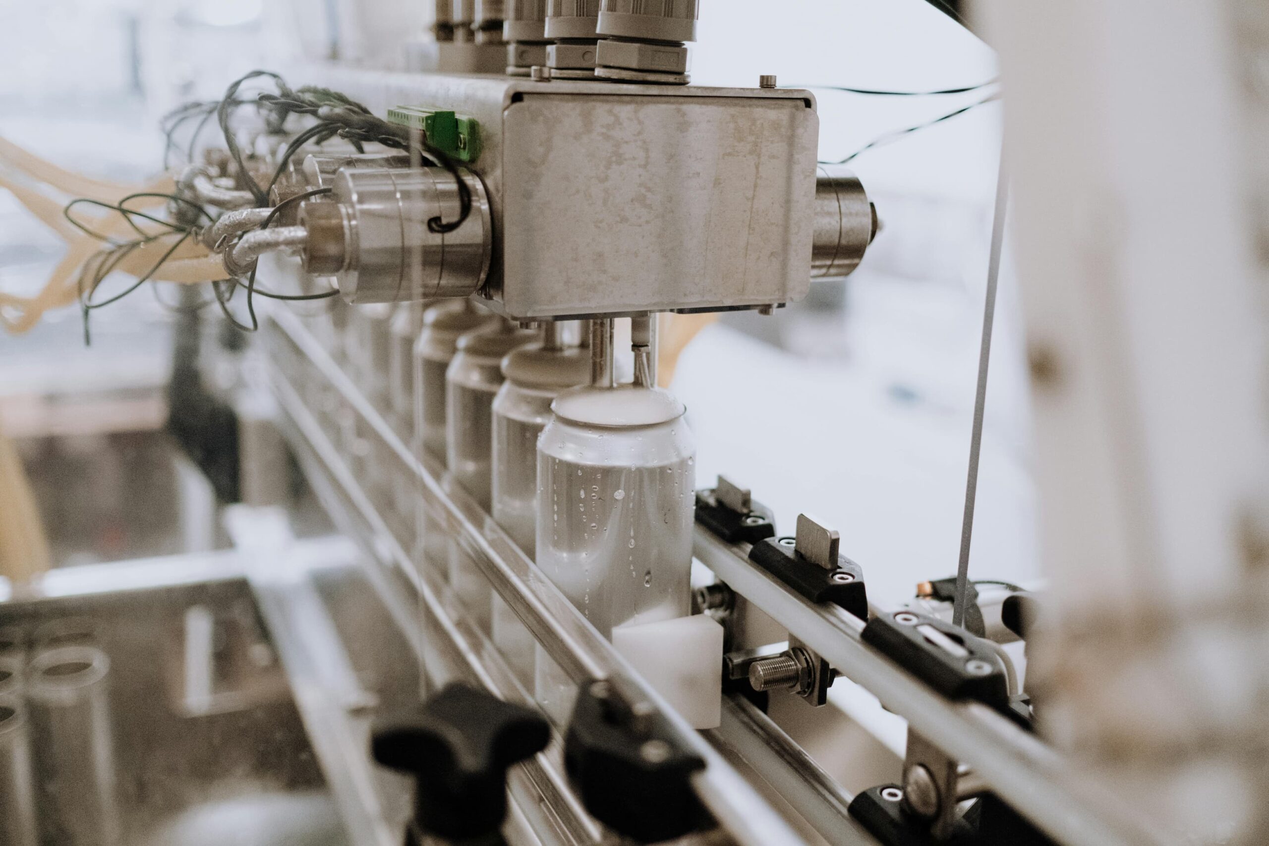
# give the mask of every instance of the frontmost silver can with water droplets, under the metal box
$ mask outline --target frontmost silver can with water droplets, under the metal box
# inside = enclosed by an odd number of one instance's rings
[[[538,440],[537,563],[604,637],[688,614],[695,445],[659,388],[574,388]]]

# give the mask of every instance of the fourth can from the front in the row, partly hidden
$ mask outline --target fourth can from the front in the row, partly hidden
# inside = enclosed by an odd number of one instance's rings
[[[414,346],[414,438],[411,449],[445,458],[445,370],[454,359],[458,339],[481,326],[492,327],[497,317],[480,311],[467,299],[447,299],[423,312],[423,329]],[[415,559],[444,566],[449,544],[437,521],[423,509],[412,487],[398,492],[397,507],[415,515]]]

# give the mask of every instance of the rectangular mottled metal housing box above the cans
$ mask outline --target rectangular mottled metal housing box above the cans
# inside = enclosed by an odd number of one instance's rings
[[[495,230],[481,293],[509,317],[718,311],[807,293],[819,142],[807,91],[317,75],[379,114],[416,105],[480,122],[471,167]]]

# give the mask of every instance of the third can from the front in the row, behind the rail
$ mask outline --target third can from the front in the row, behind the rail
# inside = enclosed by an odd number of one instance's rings
[[[537,331],[505,323],[458,339],[458,353],[445,372],[445,464],[452,478],[486,511],[491,505],[494,396],[503,386],[503,358],[539,337]],[[486,630],[489,583],[458,543],[450,543],[449,585]]]

